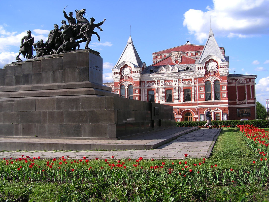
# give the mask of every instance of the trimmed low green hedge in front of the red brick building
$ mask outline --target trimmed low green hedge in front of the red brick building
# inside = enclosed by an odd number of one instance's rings
[[[176,122],[176,126],[178,127],[190,127],[190,126],[204,126],[206,121],[179,121]],[[268,128],[269,121],[268,120],[247,120],[247,121],[240,121],[240,120],[227,120],[227,121],[212,121],[212,126],[230,126],[235,127],[237,125],[253,125],[259,128]]]

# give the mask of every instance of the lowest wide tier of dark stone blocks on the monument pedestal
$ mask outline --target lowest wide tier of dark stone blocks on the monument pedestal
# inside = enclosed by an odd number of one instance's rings
[[[9,99],[0,109],[0,136],[120,138],[174,126],[172,106],[115,96]]]

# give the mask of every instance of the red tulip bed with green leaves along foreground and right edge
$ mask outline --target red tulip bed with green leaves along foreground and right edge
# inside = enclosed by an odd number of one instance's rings
[[[184,160],[22,155],[0,162],[0,185],[56,182],[62,187],[56,201],[262,201],[256,199],[258,192],[268,190],[264,189],[269,177],[268,132],[253,126],[238,127],[259,156],[249,159],[251,168],[222,168],[214,158],[194,159],[188,154],[183,154]],[[268,197],[258,198],[267,201]]]

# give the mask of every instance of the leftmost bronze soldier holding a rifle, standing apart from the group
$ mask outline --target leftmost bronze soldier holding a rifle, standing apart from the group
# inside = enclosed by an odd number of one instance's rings
[[[22,37],[20,41],[21,46],[19,50],[19,55],[16,57],[16,60],[21,62],[22,60],[19,58],[20,54],[23,54],[24,58],[30,59],[33,56],[33,44],[34,37],[31,36],[31,31],[27,31],[27,36]]]

